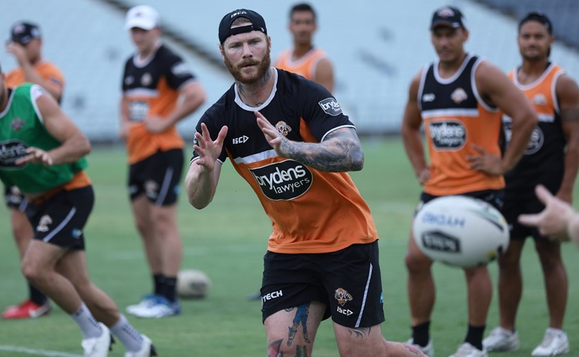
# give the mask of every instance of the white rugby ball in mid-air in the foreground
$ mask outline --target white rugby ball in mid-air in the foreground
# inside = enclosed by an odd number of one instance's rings
[[[492,205],[467,196],[441,196],[419,208],[412,223],[414,241],[433,261],[478,267],[509,246],[509,226]]]

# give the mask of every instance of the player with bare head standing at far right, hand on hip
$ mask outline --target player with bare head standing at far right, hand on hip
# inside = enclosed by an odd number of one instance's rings
[[[519,348],[515,320],[522,295],[520,255],[525,238],[534,238],[540,258],[549,308],[549,328],[533,356],[556,356],[569,352],[569,340],[562,330],[567,306],[568,281],[559,241],[542,236],[536,228],[517,222],[520,214],[538,213],[543,205],[534,194],[538,184],[567,203],[572,202],[573,185],[579,167],[579,88],[555,63],[549,61],[553,26],[545,14],[531,12],[518,25],[520,67],[509,73],[534,106],[539,123],[522,159],[505,174],[505,218],[511,227],[511,242],[498,259],[499,327],[485,338],[488,351]],[[503,117],[505,138],[511,137],[511,118]]]

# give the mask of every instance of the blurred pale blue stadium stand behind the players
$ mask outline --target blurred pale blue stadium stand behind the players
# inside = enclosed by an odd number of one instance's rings
[[[61,68],[67,79],[63,108],[92,141],[116,141],[121,72],[132,53],[125,31],[125,10],[140,3],[161,13],[165,41],[183,54],[207,90],[207,103],[179,130],[192,137],[201,113],[230,87],[232,79],[223,70],[218,52],[217,25],[223,14],[247,6],[265,17],[273,39],[272,57],[291,43],[287,11],[295,0],[220,0],[199,3],[189,0],[19,0],[0,12],[0,38],[8,39],[10,26],[26,19],[39,23],[44,33],[44,56]],[[362,134],[398,132],[400,116],[412,76],[434,59],[429,39],[429,21],[434,9],[458,6],[471,29],[467,50],[487,57],[502,70],[518,64],[516,23],[519,10],[532,10],[553,17],[556,33],[579,33],[579,21],[565,22],[577,14],[578,1],[569,0],[358,0],[336,3],[311,0],[318,12],[319,43],[334,63],[334,95]],[[483,2],[485,4],[483,4]],[[495,3],[512,3],[497,10]],[[569,7],[553,3],[573,4]],[[488,6],[487,6],[488,4]],[[572,6],[575,6],[571,8]],[[522,10],[521,10],[522,11]],[[558,30],[560,28],[560,30]],[[2,33],[4,35],[2,35]],[[560,36],[558,36],[560,37]],[[579,41],[579,37],[575,38]],[[569,42],[556,43],[551,57],[571,76],[579,79],[579,52]],[[15,63],[0,51],[2,68]]]

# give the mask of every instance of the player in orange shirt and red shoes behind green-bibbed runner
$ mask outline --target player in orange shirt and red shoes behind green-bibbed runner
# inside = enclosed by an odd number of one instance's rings
[[[60,103],[64,88],[64,76],[52,63],[42,58],[42,36],[39,26],[19,21],[10,30],[10,42],[6,51],[18,62],[18,67],[6,74],[6,86],[14,88],[22,83],[36,83]],[[34,232],[24,211],[28,201],[16,186],[6,187],[4,197],[10,210],[12,234],[20,258],[24,256]],[[50,301],[42,292],[28,283],[28,300],[9,306],[2,318],[36,318],[50,312]]]

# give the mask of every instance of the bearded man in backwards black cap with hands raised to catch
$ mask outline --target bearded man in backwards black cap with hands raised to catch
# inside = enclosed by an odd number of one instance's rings
[[[422,356],[381,334],[378,234],[347,174],[364,165],[354,125],[321,85],[270,67],[258,13],[225,14],[219,41],[235,83],[197,125],[185,187],[206,207],[229,157],[272,219],[261,287],[269,356],[311,356],[329,316],[341,356]]]

